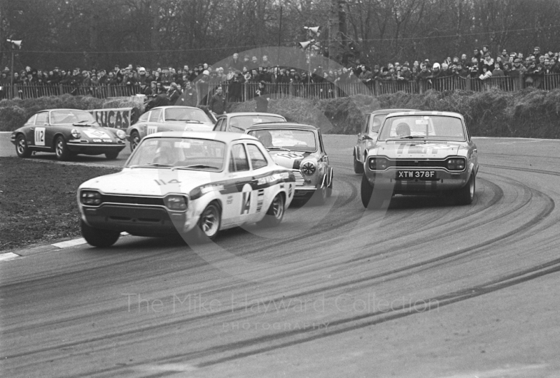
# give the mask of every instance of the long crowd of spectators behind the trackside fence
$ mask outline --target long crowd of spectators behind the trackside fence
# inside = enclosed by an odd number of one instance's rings
[[[520,75],[526,84],[539,87],[545,73],[560,73],[559,52],[541,52],[535,47],[533,52],[508,52],[502,50],[492,54],[487,45],[482,49],[475,49],[472,56],[461,54],[461,57],[447,57],[443,61],[431,62],[429,59],[388,63],[385,65],[354,64],[350,67],[337,69],[323,69],[317,66],[308,72],[293,67],[275,66],[267,55],[260,59],[256,56],[244,56],[235,53],[225,60],[222,66],[209,64],[185,65],[183,68],[148,69],[142,66],[126,67],[114,66],[113,70],[92,68],[61,69],[55,67],[50,71],[31,68],[14,72],[13,78],[8,67],[0,74],[0,86],[10,85],[66,85],[70,87],[99,86],[139,86],[141,94],[158,96],[166,94],[169,99],[178,98],[183,91],[195,91],[201,85],[228,84],[230,101],[241,99],[241,85],[245,82],[258,83],[307,83],[330,82],[334,85],[344,85],[351,82],[409,82],[432,80],[456,76],[486,80],[491,77]],[[174,100],[172,99],[172,100]]]

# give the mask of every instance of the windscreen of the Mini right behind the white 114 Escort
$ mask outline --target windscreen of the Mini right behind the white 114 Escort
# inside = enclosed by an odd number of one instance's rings
[[[257,137],[269,150],[274,148],[304,152],[317,150],[316,134],[309,130],[262,129],[249,131],[248,134]]]

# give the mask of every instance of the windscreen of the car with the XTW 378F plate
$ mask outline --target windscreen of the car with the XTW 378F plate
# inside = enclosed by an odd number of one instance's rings
[[[463,122],[445,115],[402,115],[387,117],[377,140],[426,139],[465,141]]]

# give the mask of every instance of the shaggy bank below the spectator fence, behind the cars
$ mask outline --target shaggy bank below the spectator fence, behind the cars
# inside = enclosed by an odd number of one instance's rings
[[[52,108],[129,108],[141,105],[127,99],[95,99],[90,96],[56,96],[0,101],[0,131],[12,131],[34,112]],[[201,107],[202,108],[202,107]],[[560,89],[542,91],[528,88],[520,92],[436,92],[387,94],[378,97],[353,96],[338,99],[278,99],[268,111],[288,121],[320,126],[323,133],[356,134],[364,114],[383,108],[409,108],[459,112],[473,136],[504,136],[560,139]],[[255,101],[230,103],[230,112],[253,111]]]

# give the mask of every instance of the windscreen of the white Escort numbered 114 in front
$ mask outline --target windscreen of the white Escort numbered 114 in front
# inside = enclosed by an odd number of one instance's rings
[[[132,153],[127,168],[185,168],[223,170],[227,146],[198,138],[147,138]]]

